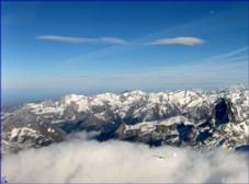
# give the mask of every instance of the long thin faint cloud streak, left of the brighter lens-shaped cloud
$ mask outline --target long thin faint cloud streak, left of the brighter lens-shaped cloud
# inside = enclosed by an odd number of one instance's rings
[[[39,35],[36,39],[50,41],[66,44],[127,44],[126,41],[117,37],[72,37],[72,36],[60,36],[60,35]]]

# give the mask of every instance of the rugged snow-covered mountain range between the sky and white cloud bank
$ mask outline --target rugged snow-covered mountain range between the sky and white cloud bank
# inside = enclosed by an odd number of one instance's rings
[[[3,114],[3,146],[15,151],[66,140],[73,131],[98,130],[99,140],[234,149],[247,143],[248,112],[249,91],[244,88],[70,94]]]

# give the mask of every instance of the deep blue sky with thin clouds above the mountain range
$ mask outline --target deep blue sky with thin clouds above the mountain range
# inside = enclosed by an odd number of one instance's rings
[[[247,2],[4,2],[3,89],[247,83]]]

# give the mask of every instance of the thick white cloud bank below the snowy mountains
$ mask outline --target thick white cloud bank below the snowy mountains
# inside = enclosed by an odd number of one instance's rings
[[[222,150],[78,139],[7,156],[2,169],[19,183],[248,183],[247,163],[246,156]]]

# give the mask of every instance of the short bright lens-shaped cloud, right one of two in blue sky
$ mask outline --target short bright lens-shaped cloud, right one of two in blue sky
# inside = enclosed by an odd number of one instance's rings
[[[148,45],[201,45],[204,41],[199,37],[172,37],[172,38],[160,38],[156,39]]]

